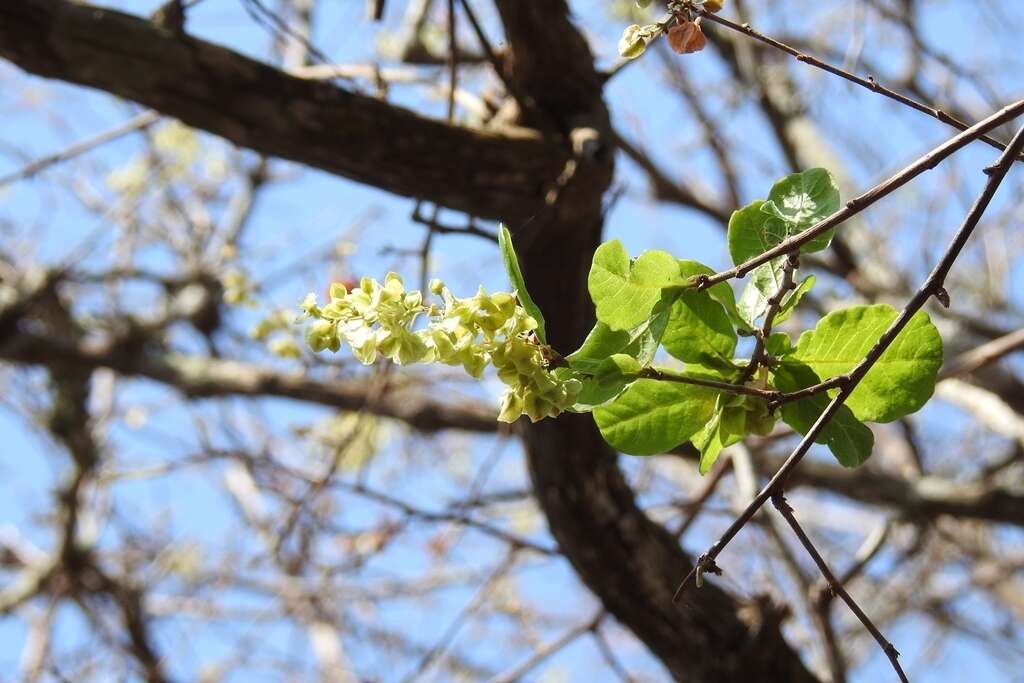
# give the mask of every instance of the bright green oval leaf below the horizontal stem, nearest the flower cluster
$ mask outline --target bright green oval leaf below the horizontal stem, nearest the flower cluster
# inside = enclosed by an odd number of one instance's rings
[[[610,403],[594,411],[601,435],[634,456],[665,453],[697,433],[715,411],[714,389],[637,380]]]

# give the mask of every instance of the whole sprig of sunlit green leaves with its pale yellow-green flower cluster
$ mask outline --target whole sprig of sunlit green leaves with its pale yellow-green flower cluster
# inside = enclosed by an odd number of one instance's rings
[[[728,246],[739,266],[833,215],[840,195],[830,173],[811,169],[772,186],[764,200],[735,211]],[[800,253],[825,249],[831,232],[803,244]],[[399,365],[442,362],[480,377],[487,365],[508,389],[499,419],[537,421],[562,412],[593,413],[601,434],[623,453],[665,453],[690,441],[701,454],[700,472],[726,446],[750,434],[770,433],[779,419],[796,431],[811,425],[897,316],[888,305],[852,306],[822,317],[796,343],[775,326],[814,286],[798,280],[800,253],[783,254],[748,273],[738,299],[727,283],[709,286],[714,270],[665,251],[631,258],[618,241],[594,253],[588,289],[597,324],[565,356],[545,343],[544,316],[526,292],[511,237],[500,247],[513,292],[459,299],[439,281],[431,292],[442,305],[426,305],[401,279],[365,278],[348,292],[335,285],[319,307],[310,295],[305,317],[315,318],[306,339],[314,351],[342,342],[364,364],[378,354]],[[419,317],[427,319],[414,329]],[[749,358],[737,358],[740,336],[754,339]],[[664,351],[664,354],[659,352]],[[654,366],[671,356],[676,367]],[[849,399],[820,431],[847,467],[871,454],[865,422],[891,422],[931,397],[942,364],[942,341],[928,315],[918,312],[871,366]]]

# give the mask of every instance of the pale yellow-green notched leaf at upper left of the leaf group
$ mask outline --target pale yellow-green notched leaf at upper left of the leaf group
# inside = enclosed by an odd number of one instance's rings
[[[587,287],[597,319],[611,330],[631,330],[648,317],[663,297],[685,284],[679,264],[668,252],[647,251],[634,261],[617,240],[594,252]],[[667,302],[668,303],[668,302]]]

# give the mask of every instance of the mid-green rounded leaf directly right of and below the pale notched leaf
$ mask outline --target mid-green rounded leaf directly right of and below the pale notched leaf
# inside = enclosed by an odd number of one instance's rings
[[[672,304],[662,344],[684,362],[729,368],[736,350],[736,331],[725,308],[708,292],[688,290]]]

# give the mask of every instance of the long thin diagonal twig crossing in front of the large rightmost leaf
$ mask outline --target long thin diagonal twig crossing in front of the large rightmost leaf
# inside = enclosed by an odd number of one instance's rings
[[[707,553],[701,555],[693,566],[693,569],[683,579],[680,583],[679,588],[676,590],[673,596],[673,601],[678,601],[682,596],[684,589],[689,585],[690,581],[696,578],[696,575],[702,574],[705,572],[720,573],[721,568],[715,563],[715,558],[721,554],[725,547],[735,538],[736,533],[739,532],[750,520],[757,513],[759,509],[765,504],[765,502],[774,494],[779,490],[782,483],[790,476],[790,473],[800,464],[804,456],[810,450],[811,445],[814,443],[814,439],[817,438],[821,430],[824,429],[825,425],[833,419],[836,413],[842,408],[843,403],[850,396],[853,390],[857,387],[860,381],[864,378],[864,375],[874,366],[878,359],[886,351],[887,348],[895,341],[897,335],[906,327],[910,318],[916,313],[921,308],[924,307],[925,303],[933,296],[945,297],[948,299],[948,294],[944,289],[946,274],[952,267],[952,264],[956,261],[959,256],[961,251],[963,251],[964,246],[970,239],[972,232],[978,226],[978,222],[984,215],[985,210],[988,208],[992,197],[995,195],[995,190],[998,188],[1002,179],[1006,177],[1007,172],[1010,170],[1010,166],[1014,163],[1017,155],[1020,154],[1021,150],[1024,148],[1024,128],[1022,128],[1015,136],[1013,141],[999,157],[998,162],[992,167],[985,169],[988,173],[988,182],[985,183],[985,187],[979,195],[978,199],[975,201],[974,206],[968,213],[957,230],[956,234],[953,237],[949,246],[946,248],[945,253],[940,259],[939,263],[932,270],[931,274],[925,281],[925,283],[918,289],[913,297],[907,302],[903,311],[896,317],[896,319],[889,326],[885,334],[879,339],[879,341],[871,347],[864,359],[857,365],[856,368],[849,374],[849,381],[846,382],[839,394],[833,398],[825,410],[818,416],[818,419],[814,422],[811,428],[801,439],[800,443],[794,450],[794,452],[786,459],[785,463],[778,469],[771,480],[761,489],[746,509],[736,518],[735,521],[725,530],[725,532],[719,538],[719,540],[708,550]]]

